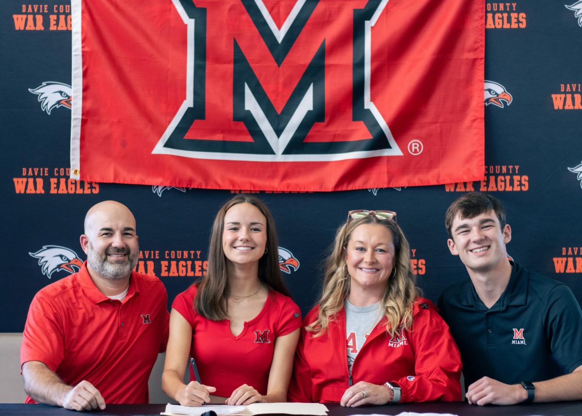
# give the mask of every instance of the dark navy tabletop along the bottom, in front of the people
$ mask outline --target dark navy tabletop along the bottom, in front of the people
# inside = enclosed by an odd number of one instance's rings
[[[515,406],[474,406],[460,401],[448,403],[406,403],[386,406],[341,407],[326,404],[329,416],[349,416],[354,414],[398,415],[404,411],[416,413],[452,413],[459,416],[582,416],[582,401],[562,401],[558,403],[517,404]],[[6,416],[141,416],[159,415],[165,404],[109,404],[104,411],[76,412],[44,404],[0,404],[0,415]]]

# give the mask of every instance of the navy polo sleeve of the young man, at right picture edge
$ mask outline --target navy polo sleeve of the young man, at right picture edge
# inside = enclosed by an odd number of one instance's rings
[[[544,330],[552,355],[566,373],[582,365],[582,311],[569,287],[560,284],[549,293]]]

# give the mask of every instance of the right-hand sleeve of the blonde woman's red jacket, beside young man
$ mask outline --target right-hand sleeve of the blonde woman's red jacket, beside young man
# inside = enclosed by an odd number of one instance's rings
[[[424,299],[423,299],[424,300]],[[459,401],[463,366],[449,327],[430,302],[414,316],[411,337],[416,355],[415,375],[395,380],[401,401]]]

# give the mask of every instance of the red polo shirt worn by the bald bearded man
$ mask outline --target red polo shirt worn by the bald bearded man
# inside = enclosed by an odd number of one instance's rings
[[[148,403],[148,378],[168,341],[168,294],[154,276],[132,272],[122,302],[87,272],[42,288],[30,304],[20,366],[44,362],[65,383],[93,384],[105,403]],[[30,397],[26,403],[35,403]]]

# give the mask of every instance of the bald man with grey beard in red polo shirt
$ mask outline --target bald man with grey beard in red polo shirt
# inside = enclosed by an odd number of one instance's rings
[[[168,295],[157,277],[133,271],[137,241],[125,205],[104,201],[87,212],[87,261],[30,305],[20,350],[26,403],[148,403],[148,378],[168,341]]]

